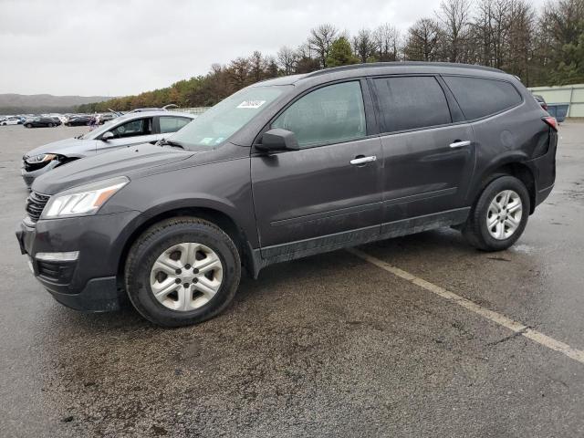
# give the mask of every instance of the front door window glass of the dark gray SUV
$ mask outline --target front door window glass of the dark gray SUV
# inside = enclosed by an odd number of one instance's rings
[[[294,132],[300,147],[365,137],[360,83],[343,82],[308,93],[280,114],[272,128]]]

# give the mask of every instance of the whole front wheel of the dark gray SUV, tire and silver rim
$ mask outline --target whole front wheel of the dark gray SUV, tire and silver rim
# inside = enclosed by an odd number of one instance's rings
[[[165,327],[213,318],[235,297],[240,276],[232,239],[194,217],[153,225],[131,247],[125,269],[134,308]]]

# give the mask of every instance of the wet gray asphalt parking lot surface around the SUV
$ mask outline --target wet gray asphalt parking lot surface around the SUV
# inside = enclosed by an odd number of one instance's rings
[[[446,229],[270,266],[173,330],[64,308],[19,253],[23,152],[85,130],[0,127],[2,436],[584,435],[584,122],[511,249]]]

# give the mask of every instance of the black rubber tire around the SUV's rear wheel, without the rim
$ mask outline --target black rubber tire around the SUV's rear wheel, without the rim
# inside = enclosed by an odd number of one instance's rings
[[[513,235],[510,235],[504,240],[498,240],[489,233],[486,225],[486,216],[489,205],[495,199],[495,196],[505,190],[512,190],[519,195],[523,213]],[[523,234],[527,225],[529,211],[529,193],[525,184],[514,176],[499,176],[486,185],[474,203],[462,230],[464,238],[470,245],[483,251],[502,251],[507,249],[509,246],[515,244],[517,239]]]

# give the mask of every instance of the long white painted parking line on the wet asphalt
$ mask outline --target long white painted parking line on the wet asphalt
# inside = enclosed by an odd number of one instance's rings
[[[381,267],[381,269],[387,272],[391,272],[391,274],[394,276],[399,276],[400,278],[403,278],[404,280],[407,280],[416,286],[423,287],[438,297],[443,297],[444,299],[447,299],[454,304],[457,304],[458,306],[466,308],[467,310],[470,310],[483,318],[489,319],[490,321],[493,321],[500,326],[508,328],[517,333],[517,335],[525,336],[527,339],[531,339],[538,344],[547,347],[548,349],[559,351],[560,353],[568,356],[570,359],[578,360],[580,363],[584,363],[584,351],[580,349],[573,349],[564,342],[550,338],[549,336],[544,335],[543,333],[534,330],[533,328],[528,328],[525,324],[517,322],[511,318],[507,318],[505,315],[502,315],[498,312],[489,310],[488,308],[483,308],[470,299],[456,295],[454,292],[444,289],[443,287],[436,286],[433,283],[424,280],[423,278],[414,276],[409,272],[401,270],[399,267],[391,266],[389,263],[385,263],[379,258],[366,254],[359,249],[349,248],[348,251],[352,255],[357,255],[372,265]]]

